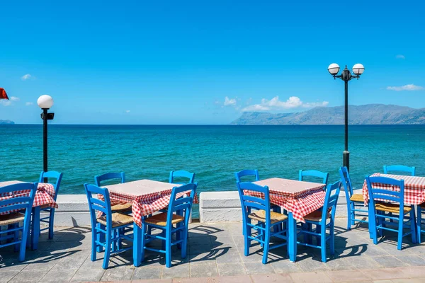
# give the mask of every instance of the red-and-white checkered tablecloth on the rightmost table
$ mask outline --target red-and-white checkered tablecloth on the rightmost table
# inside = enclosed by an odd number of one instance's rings
[[[392,175],[392,174],[381,174],[375,173],[371,177],[387,177],[393,178],[396,180],[404,180],[404,203],[405,204],[421,204],[425,202],[425,177],[418,176],[404,176],[404,175]],[[399,192],[400,188],[392,185],[384,184],[372,184],[373,187],[382,189],[382,190],[392,190]],[[368,205],[369,201],[369,191],[368,184],[363,183],[363,199],[365,200],[365,205]]]

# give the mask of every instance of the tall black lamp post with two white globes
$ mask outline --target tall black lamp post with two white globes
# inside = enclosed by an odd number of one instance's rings
[[[349,171],[350,152],[348,151],[348,81],[351,81],[351,79],[360,78],[361,74],[363,74],[363,71],[365,71],[365,67],[363,67],[362,64],[355,64],[353,66],[353,74],[351,74],[351,71],[348,70],[346,66],[345,69],[341,72],[341,74],[338,75],[339,65],[332,63],[329,65],[328,71],[332,76],[334,76],[334,79],[339,78],[343,80],[345,84],[345,150],[342,154],[342,160],[344,166],[346,166]]]

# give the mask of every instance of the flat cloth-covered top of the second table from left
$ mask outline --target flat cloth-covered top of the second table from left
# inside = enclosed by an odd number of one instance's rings
[[[180,184],[171,184],[154,180],[137,180],[116,185],[106,185],[109,192],[116,194],[134,195],[136,197],[148,195],[155,192],[163,192],[164,190],[172,190],[173,187],[180,187]]]

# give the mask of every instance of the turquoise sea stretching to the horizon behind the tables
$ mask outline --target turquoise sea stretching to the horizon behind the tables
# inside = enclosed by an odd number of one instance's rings
[[[383,165],[425,175],[425,125],[351,125],[353,186]],[[167,182],[171,170],[196,173],[198,192],[236,190],[234,172],[297,179],[298,171],[339,180],[343,125],[49,125],[48,168],[64,173],[60,194],[83,194],[94,175]],[[0,181],[34,182],[42,171],[42,125],[0,125]]]

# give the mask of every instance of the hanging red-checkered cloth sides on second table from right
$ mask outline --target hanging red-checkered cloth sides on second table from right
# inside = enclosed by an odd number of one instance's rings
[[[304,216],[323,207],[326,192],[324,185],[311,187],[301,192],[285,192],[283,190],[270,190],[269,197],[272,204],[276,204],[288,212],[292,212],[293,218],[305,222]],[[261,193],[244,190],[246,195],[264,197]]]

